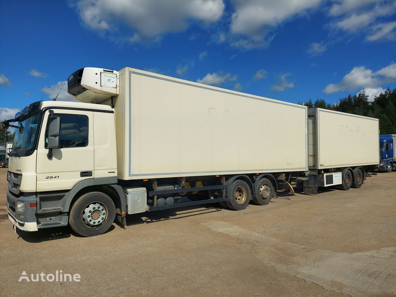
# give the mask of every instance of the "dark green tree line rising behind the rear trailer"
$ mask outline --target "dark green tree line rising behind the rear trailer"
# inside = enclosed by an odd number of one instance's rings
[[[366,92],[362,90],[358,95],[348,95],[348,97],[341,98],[333,105],[326,103],[323,99],[316,99],[313,103],[309,99],[309,101],[299,102],[298,104],[305,105],[308,108],[319,107],[377,118],[379,119],[381,134],[396,134],[396,88],[393,90],[387,88],[384,93],[376,96],[372,102],[369,101]]]

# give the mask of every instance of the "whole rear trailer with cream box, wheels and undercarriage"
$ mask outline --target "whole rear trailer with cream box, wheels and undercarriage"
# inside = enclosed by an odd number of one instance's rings
[[[379,120],[334,110],[308,109],[309,179],[304,192],[338,185],[360,188],[379,164]]]

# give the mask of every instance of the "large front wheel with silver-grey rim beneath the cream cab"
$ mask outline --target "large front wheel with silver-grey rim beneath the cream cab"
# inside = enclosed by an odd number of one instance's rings
[[[116,216],[113,200],[102,192],[89,192],[73,204],[69,213],[70,227],[81,236],[106,232]]]

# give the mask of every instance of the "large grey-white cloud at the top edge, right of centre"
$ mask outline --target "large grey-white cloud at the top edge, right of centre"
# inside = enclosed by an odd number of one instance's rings
[[[315,8],[321,0],[232,0],[230,32],[243,36],[233,46],[254,48],[268,45],[274,36],[267,34],[284,21],[303,15]]]

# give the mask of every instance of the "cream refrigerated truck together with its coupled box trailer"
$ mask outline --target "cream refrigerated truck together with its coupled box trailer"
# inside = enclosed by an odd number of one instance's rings
[[[129,67],[77,70],[68,92],[81,102],[32,103],[2,123],[16,128],[7,202],[21,230],[70,224],[95,236],[126,214],[242,210],[289,181],[348,190],[379,162],[377,119]]]

